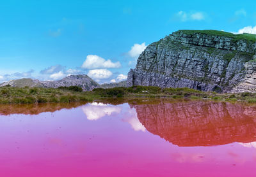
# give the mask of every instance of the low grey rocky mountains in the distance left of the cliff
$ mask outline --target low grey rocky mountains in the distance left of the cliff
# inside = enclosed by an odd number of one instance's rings
[[[120,81],[118,83],[104,83],[100,85],[86,74],[70,75],[57,81],[40,81],[33,80],[31,78],[24,78],[19,80],[10,80],[4,83],[0,83],[0,87],[10,85],[11,87],[45,87],[45,88],[58,88],[78,86],[83,88],[84,91],[93,90],[93,88],[113,88],[113,87],[125,87],[126,81]]]

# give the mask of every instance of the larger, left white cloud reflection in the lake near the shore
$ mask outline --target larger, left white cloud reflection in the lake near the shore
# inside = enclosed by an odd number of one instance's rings
[[[103,103],[89,103],[82,107],[88,120],[98,120],[99,118],[110,116],[113,113],[120,113],[121,108]]]

